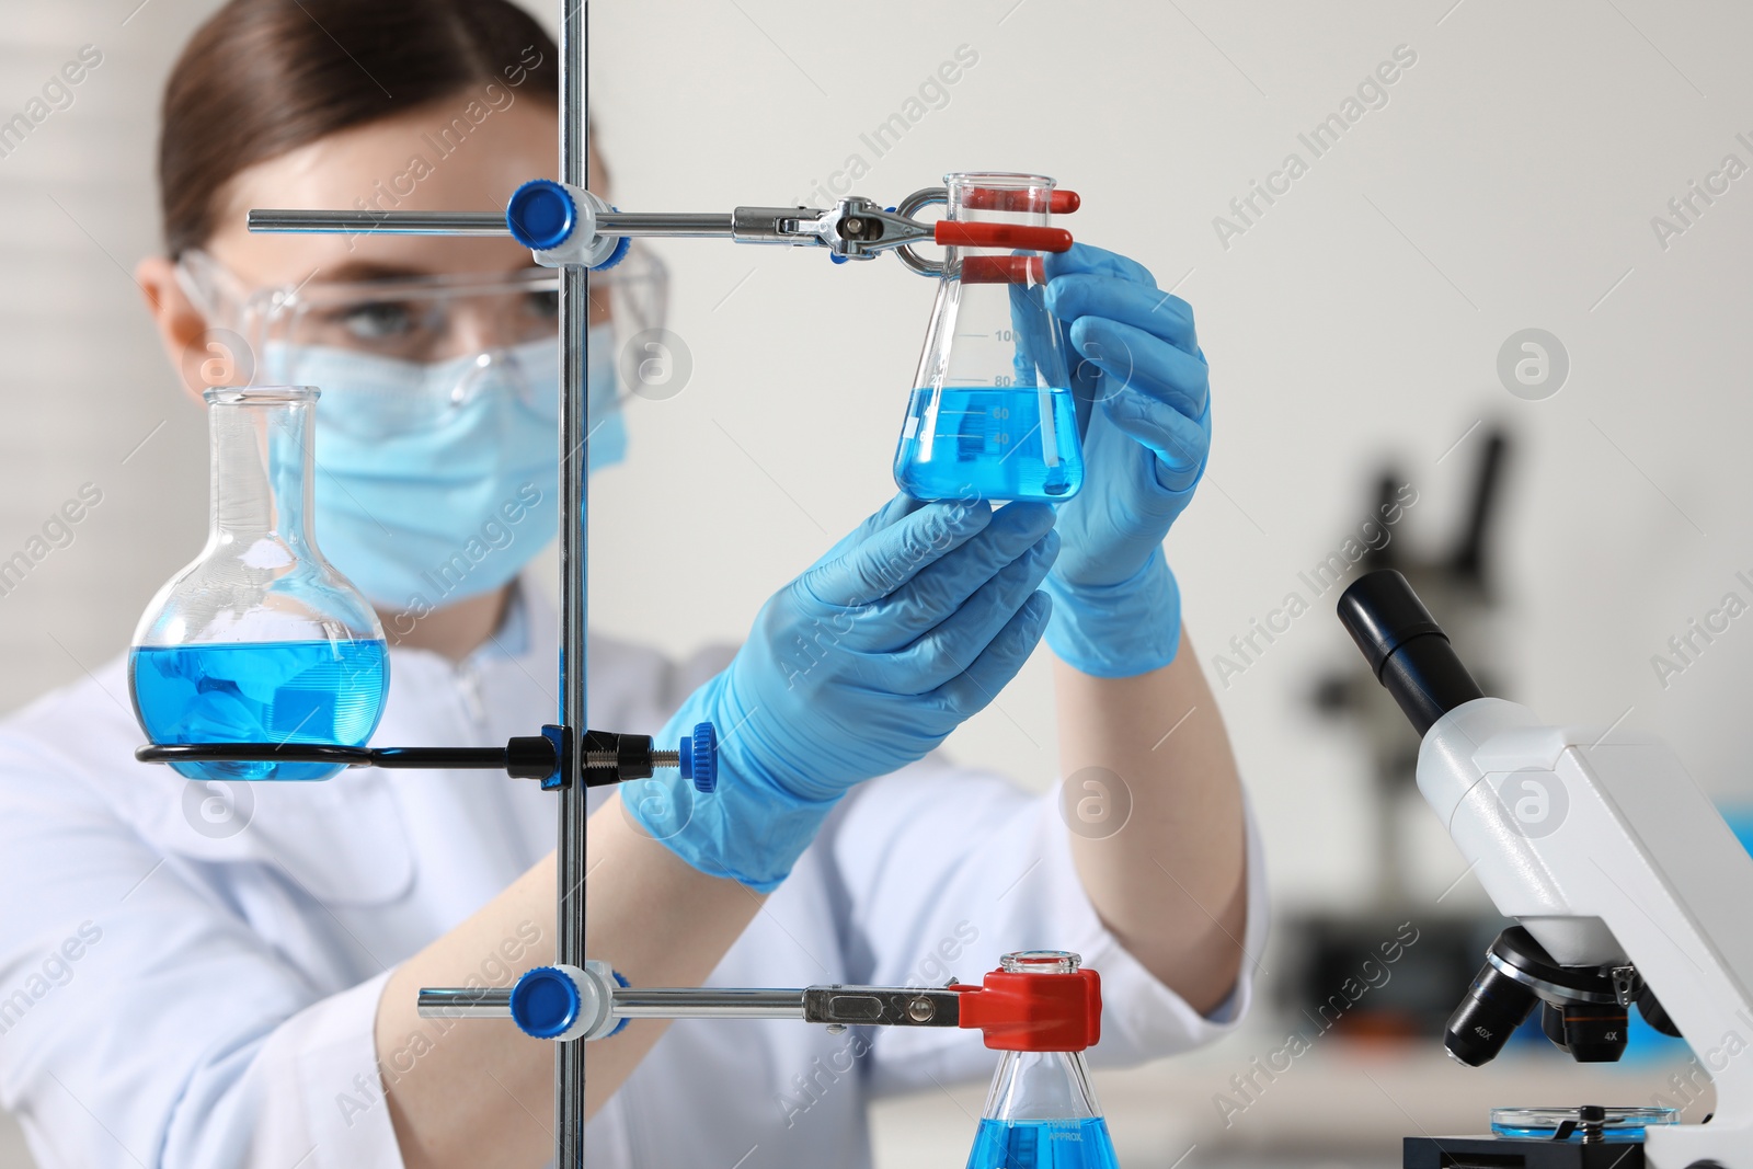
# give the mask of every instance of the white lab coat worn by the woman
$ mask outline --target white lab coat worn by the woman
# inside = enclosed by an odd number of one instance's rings
[[[503,745],[554,719],[554,613],[521,592],[461,666],[393,650],[373,741]],[[656,731],[724,661],[593,640],[591,726]],[[400,1165],[373,1052],[384,981],[554,847],[556,797],[487,771],[377,769],[228,797],[135,762],[140,741],[123,659],[0,727],[0,1106],[42,1169]],[[1252,825],[1248,852],[1259,953]],[[552,924],[505,946],[549,960]],[[1248,1004],[1245,973],[1201,1018],[1101,925],[1050,797],[936,757],[857,789],[710,981],[978,981],[1034,946],[1101,971],[1096,1062],[1206,1043]],[[508,980],[494,955],[480,976]],[[591,1122],[589,1164],[857,1169],[868,1095],[992,1066],[964,1031],[680,1022]]]

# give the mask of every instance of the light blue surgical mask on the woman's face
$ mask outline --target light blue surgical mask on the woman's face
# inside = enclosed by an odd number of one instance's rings
[[[614,328],[591,326],[591,471],[626,456]],[[554,342],[421,365],[268,344],[258,380],[316,386],[316,536],[386,610],[508,582],[559,531]]]

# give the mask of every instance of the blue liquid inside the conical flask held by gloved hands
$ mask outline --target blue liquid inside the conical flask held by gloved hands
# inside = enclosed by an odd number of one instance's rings
[[[1076,401],[1069,389],[915,389],[894,480],[915,499],[1069,499],[1083,485]]]

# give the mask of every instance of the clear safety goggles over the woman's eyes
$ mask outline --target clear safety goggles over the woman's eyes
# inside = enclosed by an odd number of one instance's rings
[[[202,251],[177,261],[195,305],[256,354],[319,347],[435,365],[557,337],[561,277],[550,268],[347,282],[321,275],[249,289]],[[589,322],[612,322],[621,340],[661,328],[668,291],[663,261],[633,247],[614,268],[591,273]]]

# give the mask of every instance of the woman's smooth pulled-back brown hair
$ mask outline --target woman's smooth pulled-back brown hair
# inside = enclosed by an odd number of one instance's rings
[[[559,49],[508,0],[230,0],[165,84],[165,249],[205,244],[249,166],[487,82],[559,95]]]

